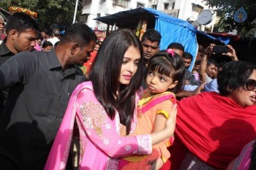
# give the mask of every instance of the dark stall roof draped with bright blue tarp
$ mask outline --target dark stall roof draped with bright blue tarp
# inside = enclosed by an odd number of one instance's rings
[[[138,8],[127,11],[117,12],[113,15],[95,18],[102,23],[121,28],[135,29],[141,19],[148,20],[147,28],[154,28],[162,35],[160,49],[165,50],[171,42],[178,42],[184,46],[185,51],[193,56],[192,64],[195,63],[197,55],[196,29],[186,20],[173,18],[163,12],[151,8]]]

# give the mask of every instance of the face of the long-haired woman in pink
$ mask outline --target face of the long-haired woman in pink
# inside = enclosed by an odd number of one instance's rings
[[[140,50],[137,47],[131,46],[124,53],[123,63],[121,65],[121,72],[119,82],[122,85],[128,85],[135,75],[140,63]]]

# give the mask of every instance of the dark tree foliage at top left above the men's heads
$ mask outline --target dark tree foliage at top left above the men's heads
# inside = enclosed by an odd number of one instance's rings
[[[23,7],[37,12],[36,18],[40,28],[53,28],[53,23],[59,26],[70,26],[75,11],[75,0],[2,0],[0,7],[9,10],[12,7]],[[78,9],[76,18],[79,18],[81,10]]]

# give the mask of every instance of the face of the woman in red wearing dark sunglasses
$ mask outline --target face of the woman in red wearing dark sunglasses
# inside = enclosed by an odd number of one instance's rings
[[[256,80],[256,70],[254,70],[249,79]],[[248,79],[248,80],[249,80]],[[253,90],[246,90],[245,86],[235,90],[228,96],[232,98],[241,107],[249,107],[256,104],[256,87]]]

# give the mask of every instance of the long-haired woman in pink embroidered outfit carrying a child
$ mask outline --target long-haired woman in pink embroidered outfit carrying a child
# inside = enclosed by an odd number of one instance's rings
[[[142,56],[140,41],[132,31],[119,29],[107,36],[91,68],[90,81],[72,93],[45,169],[65,169],[74,123],[80,134],[79,169],[117,169],[118,158],[148,155],[152,144],[170,138],[175,107],[162,131],[128,136],[137,123]]]

